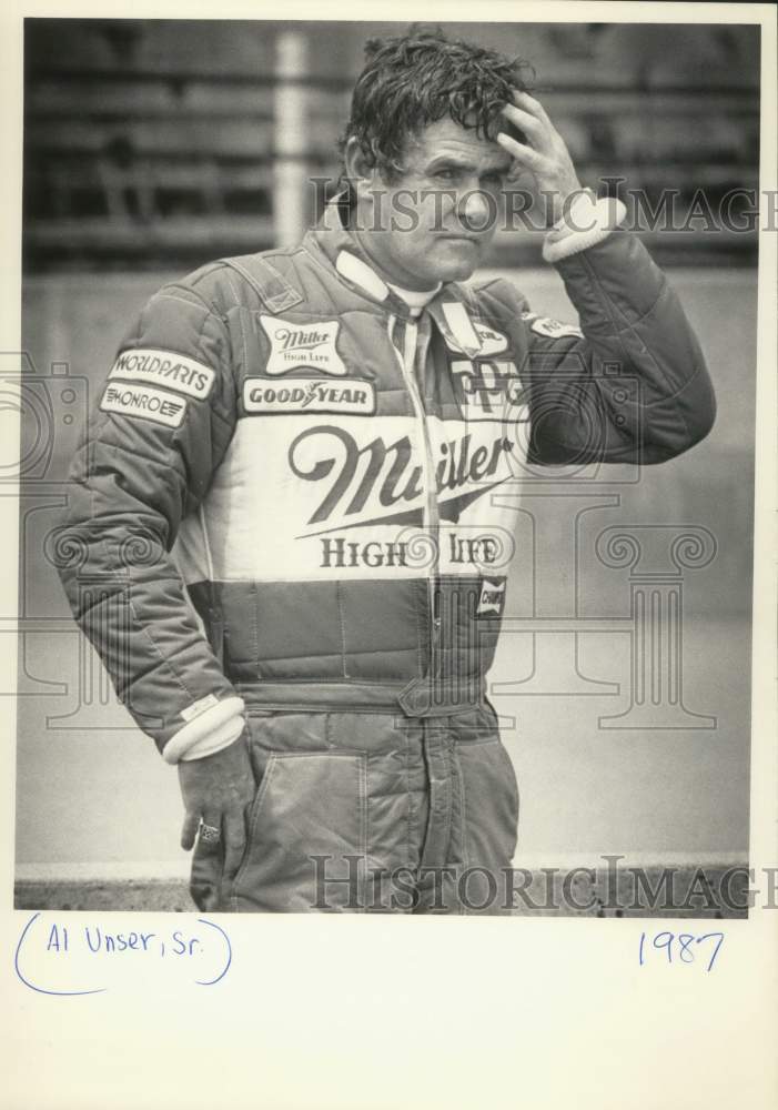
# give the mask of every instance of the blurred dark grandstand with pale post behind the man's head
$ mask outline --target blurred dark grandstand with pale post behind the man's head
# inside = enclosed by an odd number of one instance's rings
[[[321,201],[310,179],[337,176],[365,38],[397,27],[27,20],[27,272],[186,269],[295,239]],[[676,190],[681,223],[698,189],[714,211],[756,190],[757,28],[446,30],[533,63],[585,183],[620,176],[653,209]],[[740,194],[731,215],[748,208]],[[752,263],[756,230],[694,233],[703,224],[648,245],[665,263]],[[540,238],[498,235],[493,262],[536,262]]]

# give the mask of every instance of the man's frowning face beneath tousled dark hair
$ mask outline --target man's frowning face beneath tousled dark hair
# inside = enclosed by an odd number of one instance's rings
[[[469,278],[494,235],[511,157],[445,118],[408,141],[403,168],[394,184],[373,171],[357,208],[363,248],[405,289]]]

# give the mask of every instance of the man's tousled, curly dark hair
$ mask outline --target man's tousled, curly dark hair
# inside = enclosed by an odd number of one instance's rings
[[[403,173],[407,140],[448,115],[478,137],[513,131],[499,110],[514,89],[528,89],[532,67],[496,50],[447,39],[439,28],[413,29],[390,39],[368,39],[366,64],[351,103],[351,118],[339,143],[341,155],[355,137],[370,164],[392,182]]]

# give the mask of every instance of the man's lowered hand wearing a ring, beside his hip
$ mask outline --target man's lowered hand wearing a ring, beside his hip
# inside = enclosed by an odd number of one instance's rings
[[[243,733],[234,744],[202,759],[181,760],[179,784],[184,804],[181,847],[189,851],[200,821],[219,829],[224,876],[233,878],[246,842],[246,817],[254,798],[254,775]]]

